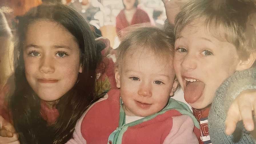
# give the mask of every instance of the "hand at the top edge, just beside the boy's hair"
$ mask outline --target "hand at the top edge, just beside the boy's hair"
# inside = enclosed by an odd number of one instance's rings
[[[189,0],[162,0],[165,5],[166,16],[169,23],[174,24],[175,16],[181,10],[181,7]]]

